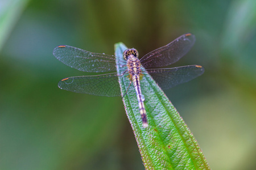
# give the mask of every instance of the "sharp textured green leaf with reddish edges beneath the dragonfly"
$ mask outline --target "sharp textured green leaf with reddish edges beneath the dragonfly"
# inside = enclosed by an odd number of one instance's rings
[[[115,44],[115,56],[118,57],[117,72],[122,74],[123,51],[127,47],[119,42]],[[133,84],[133,92],[123,97],[127,117],[133,128],[139,151],[146,169],[210,169],[196,139],[188,129],[174,105],[158,87],[155,81],[143,73],[148,89],[152,92],[143,94],[147,112],[148,128],[142,127],[141,115]],[[119,78],[122,95],[126,93],[130,80]],[[129,89],[130,91],[130,89]]]

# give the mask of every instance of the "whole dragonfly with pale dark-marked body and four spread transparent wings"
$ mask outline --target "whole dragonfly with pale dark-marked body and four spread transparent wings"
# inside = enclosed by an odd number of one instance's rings
[[[59,88],[80,94],[97,96],[121,96],[118,77],[130,79],[137,95],[139,113],[142,118],[143,128],[148,127],[146,109],[144,107],[144,95],[148,92],[148,86],[143,86],[146,80],[143,76],[150,75],[162,89],[168,89],[178,84],[188,82],[204,73],[204,67],[200,65],[188,65],[173,68],[155,69],[169,66],[183,57],[195,44],[195,35],[185,33],[177,37],[169,44],[153,50],[138,58],[136,49],[126,49],[123,59],[118,60],[119,67],[124,68],[122,74],[117,74],[117,57],[105,53],[92,53],[86,50],[68,45],[59,45],[53,50],[53,56],[65,65],[80,71],[90,73],[113,72],[100,75],[72,76],[61,79]],[[148,74],[143,74],[145,71]],[[126,94],[131,92],[129,85]]]

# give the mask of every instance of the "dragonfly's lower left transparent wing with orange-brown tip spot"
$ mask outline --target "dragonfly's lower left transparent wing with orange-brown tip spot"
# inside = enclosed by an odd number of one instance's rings
[[[72,76],[60,80],[59,88],[76,92],[79,94],[90,94],[96,96],[121,96],[117,73]]]

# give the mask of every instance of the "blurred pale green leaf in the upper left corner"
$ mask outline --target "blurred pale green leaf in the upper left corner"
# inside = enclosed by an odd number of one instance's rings
[[[0,2],[0,50],[29,0]]]

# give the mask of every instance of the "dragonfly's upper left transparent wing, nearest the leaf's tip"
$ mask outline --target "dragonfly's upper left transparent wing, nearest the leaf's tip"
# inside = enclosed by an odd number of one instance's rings
[[[116,71],[115,56],[92,53],[68,45],[59,45],[53,49],[53,56],[65,65],[85,72]]]

